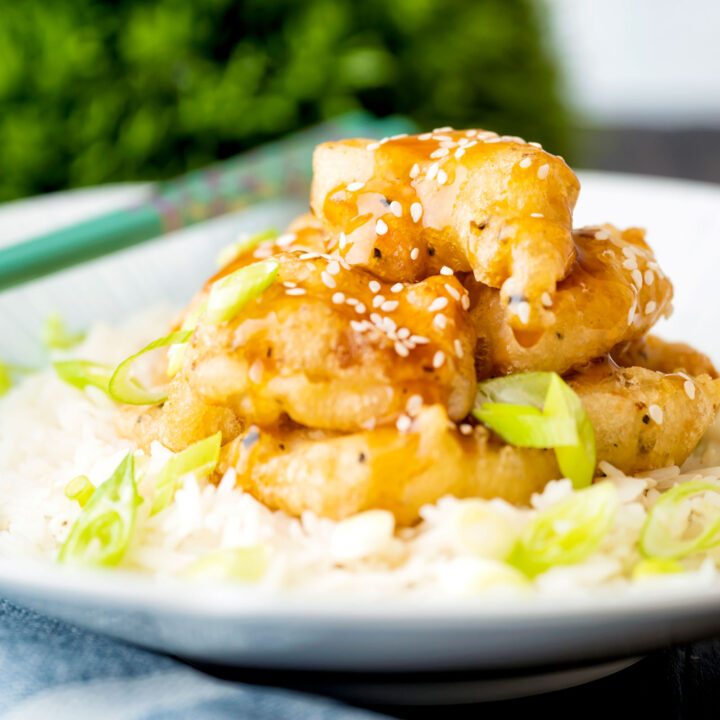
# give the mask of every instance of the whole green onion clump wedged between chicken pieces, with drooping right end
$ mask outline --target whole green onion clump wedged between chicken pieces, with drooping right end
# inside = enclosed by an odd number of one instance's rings
[[[575,488],[595,472],[595,433],[580,398],[557,373],[519,373],[478,384],[473,415],[505,442],[554,448]]]

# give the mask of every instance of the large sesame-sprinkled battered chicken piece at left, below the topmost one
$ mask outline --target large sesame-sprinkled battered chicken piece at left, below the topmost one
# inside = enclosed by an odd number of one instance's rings
[[[456,278],[390,285],[316,253],[274,259],[276,281],[235,318],[218,325],[200,317],[163,408],[165,444],[182,448],[228,427],[208,408],[229,410],[245,426],[288,416],[342,431],[422,404],[467,415],[475,333]]]

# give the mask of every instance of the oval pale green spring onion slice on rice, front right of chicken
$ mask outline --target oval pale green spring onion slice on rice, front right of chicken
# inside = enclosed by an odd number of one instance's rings
[[[591,555],[612,525],[615,486],[600,482],[541,512],[523,530],[508,562],[529,577]]]

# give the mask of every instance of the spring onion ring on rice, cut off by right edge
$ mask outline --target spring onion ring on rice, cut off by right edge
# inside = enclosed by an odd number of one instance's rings
[[[720,493],[720,485],[690,480],[660,495],[640,532],[640,552],[648,558],[678,559],[720,544],[718,506],[689,505],[705,493]],[[688,536],[691,523],[695,529]]]

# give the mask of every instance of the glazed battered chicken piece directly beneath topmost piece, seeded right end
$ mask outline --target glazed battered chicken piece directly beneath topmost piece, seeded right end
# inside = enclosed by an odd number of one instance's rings
[[[495,375],[530,370],[565,373],[640,338],[671,309],[672,284],[638,228],[613,225],[574,234],[577,259],[545,301],[555,315],[547,332],[513,332],[500,293],[465,279],[478,335],[478,365]],[[520,342],[519,340],[524,340]],[[633,364],[633,363],[629,363]]]

